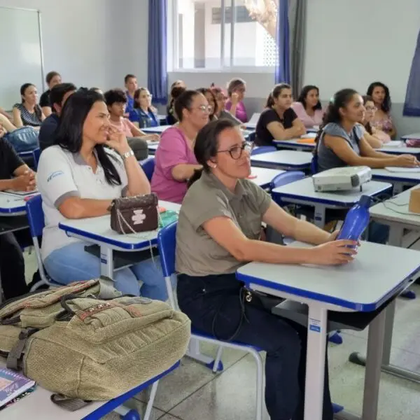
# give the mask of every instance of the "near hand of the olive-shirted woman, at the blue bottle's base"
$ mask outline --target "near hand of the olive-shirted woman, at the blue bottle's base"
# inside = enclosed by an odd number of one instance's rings
[[[341,265],[351,262],[357,254],[356,241],[330,241],[314,248],[310,248],[309,264],[316,265]],[[351,248],[350,248],[351,247]]]

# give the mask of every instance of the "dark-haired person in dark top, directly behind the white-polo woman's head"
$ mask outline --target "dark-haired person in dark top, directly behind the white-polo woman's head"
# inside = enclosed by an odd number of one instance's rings
[[[71,94],[76,92],[76,86],[73,83],[60,83],[52,87],[50,92],[50,104],[53,112],[43,120],[39,130],[38,141],[41,151],[52,146],[55,142],[55,134],[59,125],[59,117],[66,100]]]

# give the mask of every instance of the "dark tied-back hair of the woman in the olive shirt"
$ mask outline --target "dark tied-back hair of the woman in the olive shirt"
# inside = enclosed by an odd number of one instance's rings
[[[218,137],[224,130],[228,128],[235,128],[235,122],[232,120],[224,119],[213,120],[204,125],[198,132],[195,138],[194,154],[197,162],[202,165],[202,169],[196,169],[193,176],[188,180],[188,188],[200,179],[202,172],[210,172],[210,167],[207,163],[211,158],[215,158],[218,148]]]

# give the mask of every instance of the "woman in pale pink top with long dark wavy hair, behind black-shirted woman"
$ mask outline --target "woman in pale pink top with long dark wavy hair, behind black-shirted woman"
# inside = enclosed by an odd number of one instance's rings
[[[312,128],[315,125],[320,125],[324,112],[319,101],[318,87],[313,85],[304,86],[297,98],[297,102],[292,104],[292,109],[305,127]]]

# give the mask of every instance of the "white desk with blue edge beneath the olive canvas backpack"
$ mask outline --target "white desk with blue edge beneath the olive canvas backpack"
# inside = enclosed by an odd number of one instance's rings
[[[6,365],[3,358],[0,358],[0,366],[1,365]],[[52,393],[37,385],[34,392],[26,395],[22,400],[15,402],[10,405],[10,407],[2,409],[0,411],[0,420],[100,420],[103,416],[113,412],[117,407],[123,405],[124,402],[130,400],[134,395],[137,395],[139,392],[153,384],[153,382],[165,377],[169,372],[175,370],[176,367],[179,367],[179,362],[175,363],[169,370],[162,372],[162,374],[153,378],[151,381],[141,384],[113,400],[94,401],[75,412],[66,411],[52,403],[50,400]],[[126,412],[128,409],[118,411]]]

